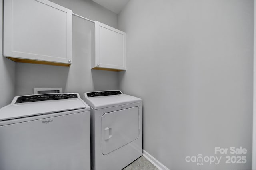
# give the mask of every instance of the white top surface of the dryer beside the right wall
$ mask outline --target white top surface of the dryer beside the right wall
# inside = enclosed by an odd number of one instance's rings
[[[107,92],[107,91],[103,91]],[[113,92],[113,91],[111,91]],[[142,102],[140,98],[126,95],[126,94],[114,94],[114,95],[107,95],[107,96],[95,96],[95,97],[88,97],[92,92],[85,93],[85,102],[92,107],[93,109],[102,109],[106,107],[113,107],[113,106],[120,106],[124,104],[132,104],[136,102]]]

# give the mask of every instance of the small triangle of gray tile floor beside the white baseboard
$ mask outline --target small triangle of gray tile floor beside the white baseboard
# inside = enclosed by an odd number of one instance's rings
[[[123,170],[158,170],[158,168],[156,168],[144,156],[141,156],[130,165],[126,166]]]

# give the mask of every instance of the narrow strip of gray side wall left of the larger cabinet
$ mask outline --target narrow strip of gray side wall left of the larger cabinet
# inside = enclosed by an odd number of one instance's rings
[[[5,57],[3,54],[3,0],[0,0],[0,108],[10,104],[15,95],[15,62]]]

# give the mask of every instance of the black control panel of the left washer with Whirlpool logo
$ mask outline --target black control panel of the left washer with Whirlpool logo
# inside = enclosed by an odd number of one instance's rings
[[[60,99],[71,99],[77,98],[77,94],[74,93],[53,93],[53,94],[35,94],[31,96],[20,96],[15,103],[24,102],[36,102],[44,100],[60,100]]]

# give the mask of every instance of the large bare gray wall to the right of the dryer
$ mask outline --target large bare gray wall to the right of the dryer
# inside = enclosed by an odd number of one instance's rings
[[[143,100],[144,150],[172,170],[250,169],[253,0],[130,0],[118,28],[119,88]],[[247,163],[226,164],[218,146],[246,148]],[[198,154],[222,159],[185,161]]]

